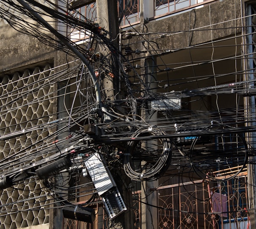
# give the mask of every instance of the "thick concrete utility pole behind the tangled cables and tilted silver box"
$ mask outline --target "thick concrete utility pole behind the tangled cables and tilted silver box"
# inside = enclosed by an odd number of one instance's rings
[[[118,49],[119,45],[119,24],[118,24],[118,13],[117,13],[117,0],[96,0],[97,4],[97,19],[98,24],[101,28],[103,28],[107,33],[107,38],[111,41],[112,45],[114,45]],[[104,53],[103,53],[104,54]],[[116,54],[118,55],[118,54]],[[109,53],[105,53],[104,55],[109,56]],[[117,56],[118,58],[118,56]],[[103,77],[103,86],[105,93],[104,96],[108,100],[114,100],[115,96],[119,92],[119,71],[117,69],[118,64],[112,62],[113,59],[108,59],[106,62],[110,63],[107,71],[114,74],[114,77],[109,77],[108,72],[105,72]],[[105,122],[111,121],[112,117],[105,116]],[[118,147],[118,146],[117,146]],[[118,181],[119,180],[119,181]],[[126,184],[123,184],[123,181],[127,180],[126,178],[119,177],[116,180],[118,189],[120,193],[123,195],[123,200],[125,205],[128,206],[127,210],[122,213],[117,218],[114,218],[112,222],[109,223],[113,229],[132,229],[134,228],[134,213],[131,206],[133,206],[131,191],[129,191],[126,187]],[[121,182],[122,183],[121,183]],[[109,227],[109,228],[111,228]]]

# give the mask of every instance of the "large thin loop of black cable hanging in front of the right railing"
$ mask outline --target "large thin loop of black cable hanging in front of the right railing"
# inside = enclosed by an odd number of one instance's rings
[[[241,173],[247,164],[247,142],[242,133],[235,133],[231,127],[216,125],[211,129],[215,132],[204,135],[210,140],[206,144],[200,142],[202,136],[193,140],[191,166],[199,177],[207,181],[230,180]]]

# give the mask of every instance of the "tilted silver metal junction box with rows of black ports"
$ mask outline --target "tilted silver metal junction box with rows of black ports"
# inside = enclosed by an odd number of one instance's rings
[[[83,176],[87,172],[92,178],[93,184],[102,197],[105,210],[110,218],[115,218],[126,210],[124,201],[114,182],[108,168],[103,165],[103,158],[100,154],[93,154],[85,162],[87,169],[83,170]]]

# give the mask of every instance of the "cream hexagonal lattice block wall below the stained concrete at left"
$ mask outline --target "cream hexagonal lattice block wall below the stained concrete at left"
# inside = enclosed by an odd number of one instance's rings
[[[0,136],[40,127],[16,138],[0,141],[1,172],[17,167],[22,158],[33,162],[47,155],[36,154],[53,130],[44,124],[54,119],[53,70],[49,65],[4,75],[0,82]],[[33,153],[35,155],[32,157]],[[30,156],[31,154],[31,156]],[[10,162],[8,164],[8,161]],[[7,163],[6,163],[7,162]],[[8,164],[8,165],[7,165]],[[0,191],[0,229],[16,229],[49,222],[49,197],[36,178]]]

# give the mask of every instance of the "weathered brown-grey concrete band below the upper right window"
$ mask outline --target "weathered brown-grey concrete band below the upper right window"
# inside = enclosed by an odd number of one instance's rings
[[[234,9],[236,10],[234,13]],[[225,0],[204,5],[191,11],[169,16],[165,19],[149,21],[136,27],[138,32],[159,32],[165,36],[154,40],[157,49],[175,50],[202,44],[223,37],[239,35],[241,29],[241,8],[239,0]],[[153,35],[144,35],[145,40]],[[159,37],[155,35],[155,37]],[[140,49],[140,36],[133,37],[132,49]]]

